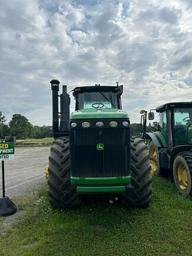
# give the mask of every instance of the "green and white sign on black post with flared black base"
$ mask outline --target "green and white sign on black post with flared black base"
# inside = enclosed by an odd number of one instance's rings
[[[1,153],[2,152],[4,153],[4,155],[2,154],[0,155],[1,156],[0,161],[2,161],[2,197],[0,198],[0,216],[9,216],[17,212],[17,207],[15,206],[15,204],[9,199],[9,197],[5,196],[5,165],[4,165],[4,160],[2,159],[8,159],[9,158],[8,153],[11,152],[11,155],[12,155],[12,152],[14,152],[12,151],[12,143],[10,145],[11,145],[11,149],[9,149],[9,142],[7,142],[7,140],[0,141],[0,148],[1,148],[0,150],[1,150]],[[2,151],[3,149],[5,150]]]

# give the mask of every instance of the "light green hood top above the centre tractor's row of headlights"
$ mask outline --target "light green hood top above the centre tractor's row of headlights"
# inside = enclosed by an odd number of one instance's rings
[[[70,119],[128,119],[128,113],[123,110],[113,109],[86,109],[77,110],[71,113]]]

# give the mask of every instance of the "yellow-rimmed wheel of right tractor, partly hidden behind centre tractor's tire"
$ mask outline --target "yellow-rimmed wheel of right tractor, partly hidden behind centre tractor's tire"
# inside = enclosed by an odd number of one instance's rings
[[[160,175],[165,178],[170,177],[170,169],[160,167],[160,154],[157,146],[152,141],[149,143],[149,159],[151,164],[151,177],[154,177],[155,175]]]

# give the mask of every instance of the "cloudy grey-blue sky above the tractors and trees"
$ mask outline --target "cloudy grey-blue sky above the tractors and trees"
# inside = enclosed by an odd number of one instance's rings
[[[141,109],[192,100],[191,0],[0,4],[0,111],[7,121],[22,114],[51,125],[51,79],[68,91],[119,81],[132,123]]]

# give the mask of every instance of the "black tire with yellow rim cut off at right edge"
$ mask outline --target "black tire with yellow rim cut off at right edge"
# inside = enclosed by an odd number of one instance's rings
[[[183,152],[175,157],[173,177],[178,191],[192,196],[192,153]]]

